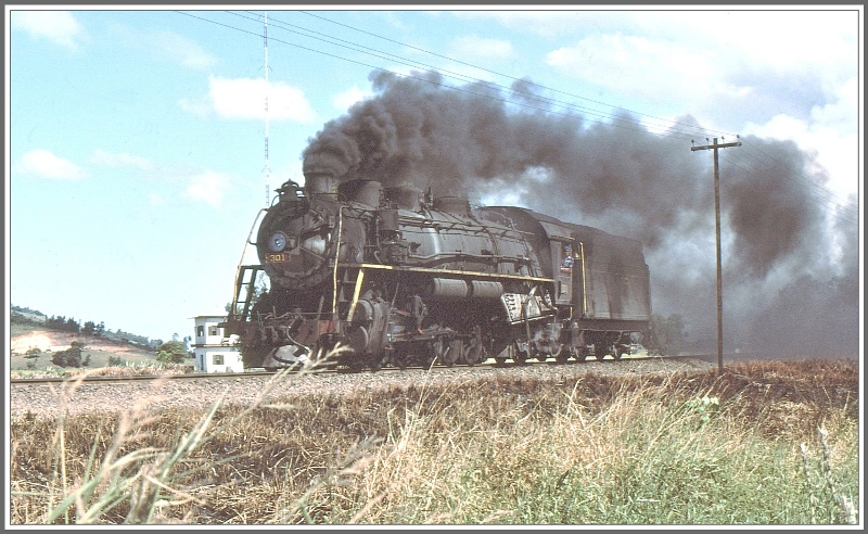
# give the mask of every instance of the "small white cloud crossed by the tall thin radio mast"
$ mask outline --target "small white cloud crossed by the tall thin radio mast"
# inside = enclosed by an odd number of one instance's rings
[[[265,118],[268,94],[268,117],[272,120],[293,120],[302,124],[318,122],[317,114],[299,89],[264,78],[208,78],[210,101],[222,118]]]

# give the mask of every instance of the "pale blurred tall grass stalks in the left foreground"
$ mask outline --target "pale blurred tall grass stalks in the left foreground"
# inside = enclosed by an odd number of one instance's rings
[[[317,368],[310,364],[301,374],[316,372]],[[247,416],[261,407],[270,409],[291,409],[291,405],[269,403],[271,394],[292,374],[289,371],[276,374],[261,391],[258,398],[250,406],[235,412],[232,417],[215,424],[215,416],[224,405],[221,396],[213,406],[200,417],[188,432],[178,432],[170,440],[168,447],[138,447],[142,433],[149,425],[158,422],[158,415],[152,415],[148,409],[148,399],[140,402],[133,409],[122,412],[116,419],[116,430],[104,447],[102,456],[98,458],[103,448],[104,440],[102,429],[97,430],[87,462],[81,474],[71,476],[67,472],[67,462],[71,450],[67,448],[66,409],[74,402],[74,393],[81,385],[87,373],[77,376],[64,383],[61,395],[61,415],[56,422],[58,428],[54,438],[54,473],[46,486],[47,510],[39,523],[76,523],[93,524],[112,522],[113,512],[124,508],[123,522],[129,524],[144,524],[162,522],[157,512],[167,507],[177,507],[195,503],[204,504],[200,498],[181,490],[186,480],[199,472],[213,470],[216,466],[230,463],[238,459],[237,456],[226,456],[217,460],[203,463],[194,455],[215,437],[221,435],[227,429],[243,422]],[[356,462],[362,450],[370,444],[361,444],[350,455],[352,462]],[[14,458],[14,457],[13,457]],[[13,466],[14,468],[14,466]],[[337,474],[346,473],[346,469]],[[34,495],[34,492],[13,491],[12,495]],[[305,497],[299,498],[296,508],[304,508]],[[187,518],[189,519],[189,518]]]

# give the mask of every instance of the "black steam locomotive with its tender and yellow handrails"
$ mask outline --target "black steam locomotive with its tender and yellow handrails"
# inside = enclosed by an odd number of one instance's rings
[[[620,359],[647,332],[636,240],[373,180],[306,176],[277,192],[224,323],[247,368]]]

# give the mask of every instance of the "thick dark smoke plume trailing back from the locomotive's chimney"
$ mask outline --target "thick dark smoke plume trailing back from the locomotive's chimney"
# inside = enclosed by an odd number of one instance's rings
[[[652,134],[628,114],[603,123],[554,113],[528,80],[509,94],[485,82],[447,88],[435,73],[371,80],[375,97],[310,140],[306,175],[431,187],[638,239],[655,313],[680,314],[697,349],[716,346],[711,151],[693,152],[682,136]],[[678,119],[691,125],[699,128]],[[855,356],[858,228],[830,224],[806,183],[826,180],[808,154],[791,142],[742,141],[777,163],[720,151],[725,349]]]

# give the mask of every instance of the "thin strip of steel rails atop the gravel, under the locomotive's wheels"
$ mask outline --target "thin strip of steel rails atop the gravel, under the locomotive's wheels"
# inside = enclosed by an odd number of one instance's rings
[[[725,355],[725,359],[726,359]],[[744,354],[730,354],[732,356],[744,357]],[[486,368],[499,368],[499,369],[509,369],[509,368],[524,368],[527,366],[582,366],[587,363],[599,363],[603,365],[617,365],[625,360],[667,360],[667,361],[678,361],[678,360],[689,360],[689,359],[698,359],[704,361],[716,361],[717,355],[716,354],[692,354],[692,355],[678,355],[678,356],[623,356],[621,359],[616,360],[613,358],[607,358],[602,360],[597,360],[593,358],[589,358],[587,361],[575,361],[569,360],[565,363],[559,363],[557,360],[546,360],[546,361],[538,361],[538,360],[528,360],[524,364],[516,364],[514,361],[507,361],[505,364],[498,364],[495,361],[494,358],[489,358],[482,364],[477,364],[475,366],[467,366],[467,365],[456,365],[456,368],[465,368],[465,369],[486,369]],[[432,366],[435,369],[448,369],[451,366],[445,366],[439,364],[434,364]],[[423,370],[421,366],[408,366],[404,370]],[[320,367],[316,369],[311,369],[306,371],[307,374],[371,374],[371,373],[393,373],[393,372],[403,372],[404,370],[396,368],[396,367],[384,367],[376,371],[372,371],[370,369],[366,369],[362,371],[352,371],[348,369],[335,369],[333,367]],[[89,384],[97,384],[97,383],[123,383],[123,382],[137,382],[137,381],[156,381],[156,380],[173,380],[173,381],[197,381],[197,380],[225,380],[225,379],[247,379],[247,378],[255,378],[255,377],[272,377],[281,371],[266,371],[266,370],[257,370],[252,369],[244,372],[212,372],[212,373],[204,373],[204,372],[192,372],[192,373],[166,373],[166,374],[128,374],[128,376],[84,376],[84,377],[47,377],[47,378],[15,378],[10,379],[10,384],[14,385],[35,385],[35,384],[51,384],[51,383],[63,383],[63,382],[73,382],[76,380],[80,380],[82,383]],[[290,371],[292,372],[292,371]]]

